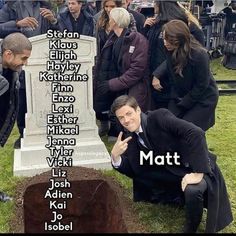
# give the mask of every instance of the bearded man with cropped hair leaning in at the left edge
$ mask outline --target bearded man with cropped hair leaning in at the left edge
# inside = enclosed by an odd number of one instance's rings
[[[28,38],[21,33],[9,34],[0,42],[0,145],[10,136],[18,112],[19,72],[32,50]],[[0,201],[11,198],[0,192]]]

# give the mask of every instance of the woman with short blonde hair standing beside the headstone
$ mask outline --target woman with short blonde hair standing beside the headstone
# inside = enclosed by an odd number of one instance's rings
[[[102,48],[94,76],[94,110],[98,119],[103,118],[103,127],[109,121],[105,114],[119,95],[132,95],[143,111],[148,109],[148,42],[142,34],[130,30],[129,24],[130,14],[126,9],[117,7],[110,11],[112,34]],[[105,134],[100,132],[101,136]],[[113,125],[108,136],[118,134]]]

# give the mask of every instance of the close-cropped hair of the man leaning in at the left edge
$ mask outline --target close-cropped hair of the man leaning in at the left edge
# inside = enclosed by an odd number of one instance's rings
[[[12,33],[2,40],[2,51],[11,50],[13,54],[20,54],[24,50],[31,51],[32,44],[22,33]]]

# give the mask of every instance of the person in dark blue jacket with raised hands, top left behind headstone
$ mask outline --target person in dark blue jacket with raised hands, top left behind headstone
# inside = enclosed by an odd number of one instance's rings
[[[57,19],[48,1],[7,1],[0,10],[0,34],[4,37],[9,33],[21,32],[30,38],[44,34],[48,29],[56,29],[56,24]],[[19,103],[17,126],[20,136],[14,144],[16,149],[21,147],[27,112],[24,71],[20,74]]]

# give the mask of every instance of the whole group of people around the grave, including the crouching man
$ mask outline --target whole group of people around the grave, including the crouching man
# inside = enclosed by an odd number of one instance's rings
[[[27,104],[25,73],[18,68],[30,57],[28,38],[49,29],[95,37],[93,108],[99,135],[115,141],[112,166],[133,179],[136,201],[184,200],[184,232],[197,231],[204,207],[206,232],[219,231],[232,221],[232,212],[204,136],[215,124],[219,93],[202,27],[178,1],[154,0],[154,13],[148,17],[132,10],[131,1],[0,0],[0,108],[8,114],[0,117],[0,145],[6,143],[19,107],[20,137],[14,148],[21,146]],[[235,0],[231,4],[235,7]],[[131,136],[122,140],[123,128]],[[138,163],[139,151],[170,149],[183,154],[179,168],[142,169]],[[0,192],[0,201],[9,199]]]

